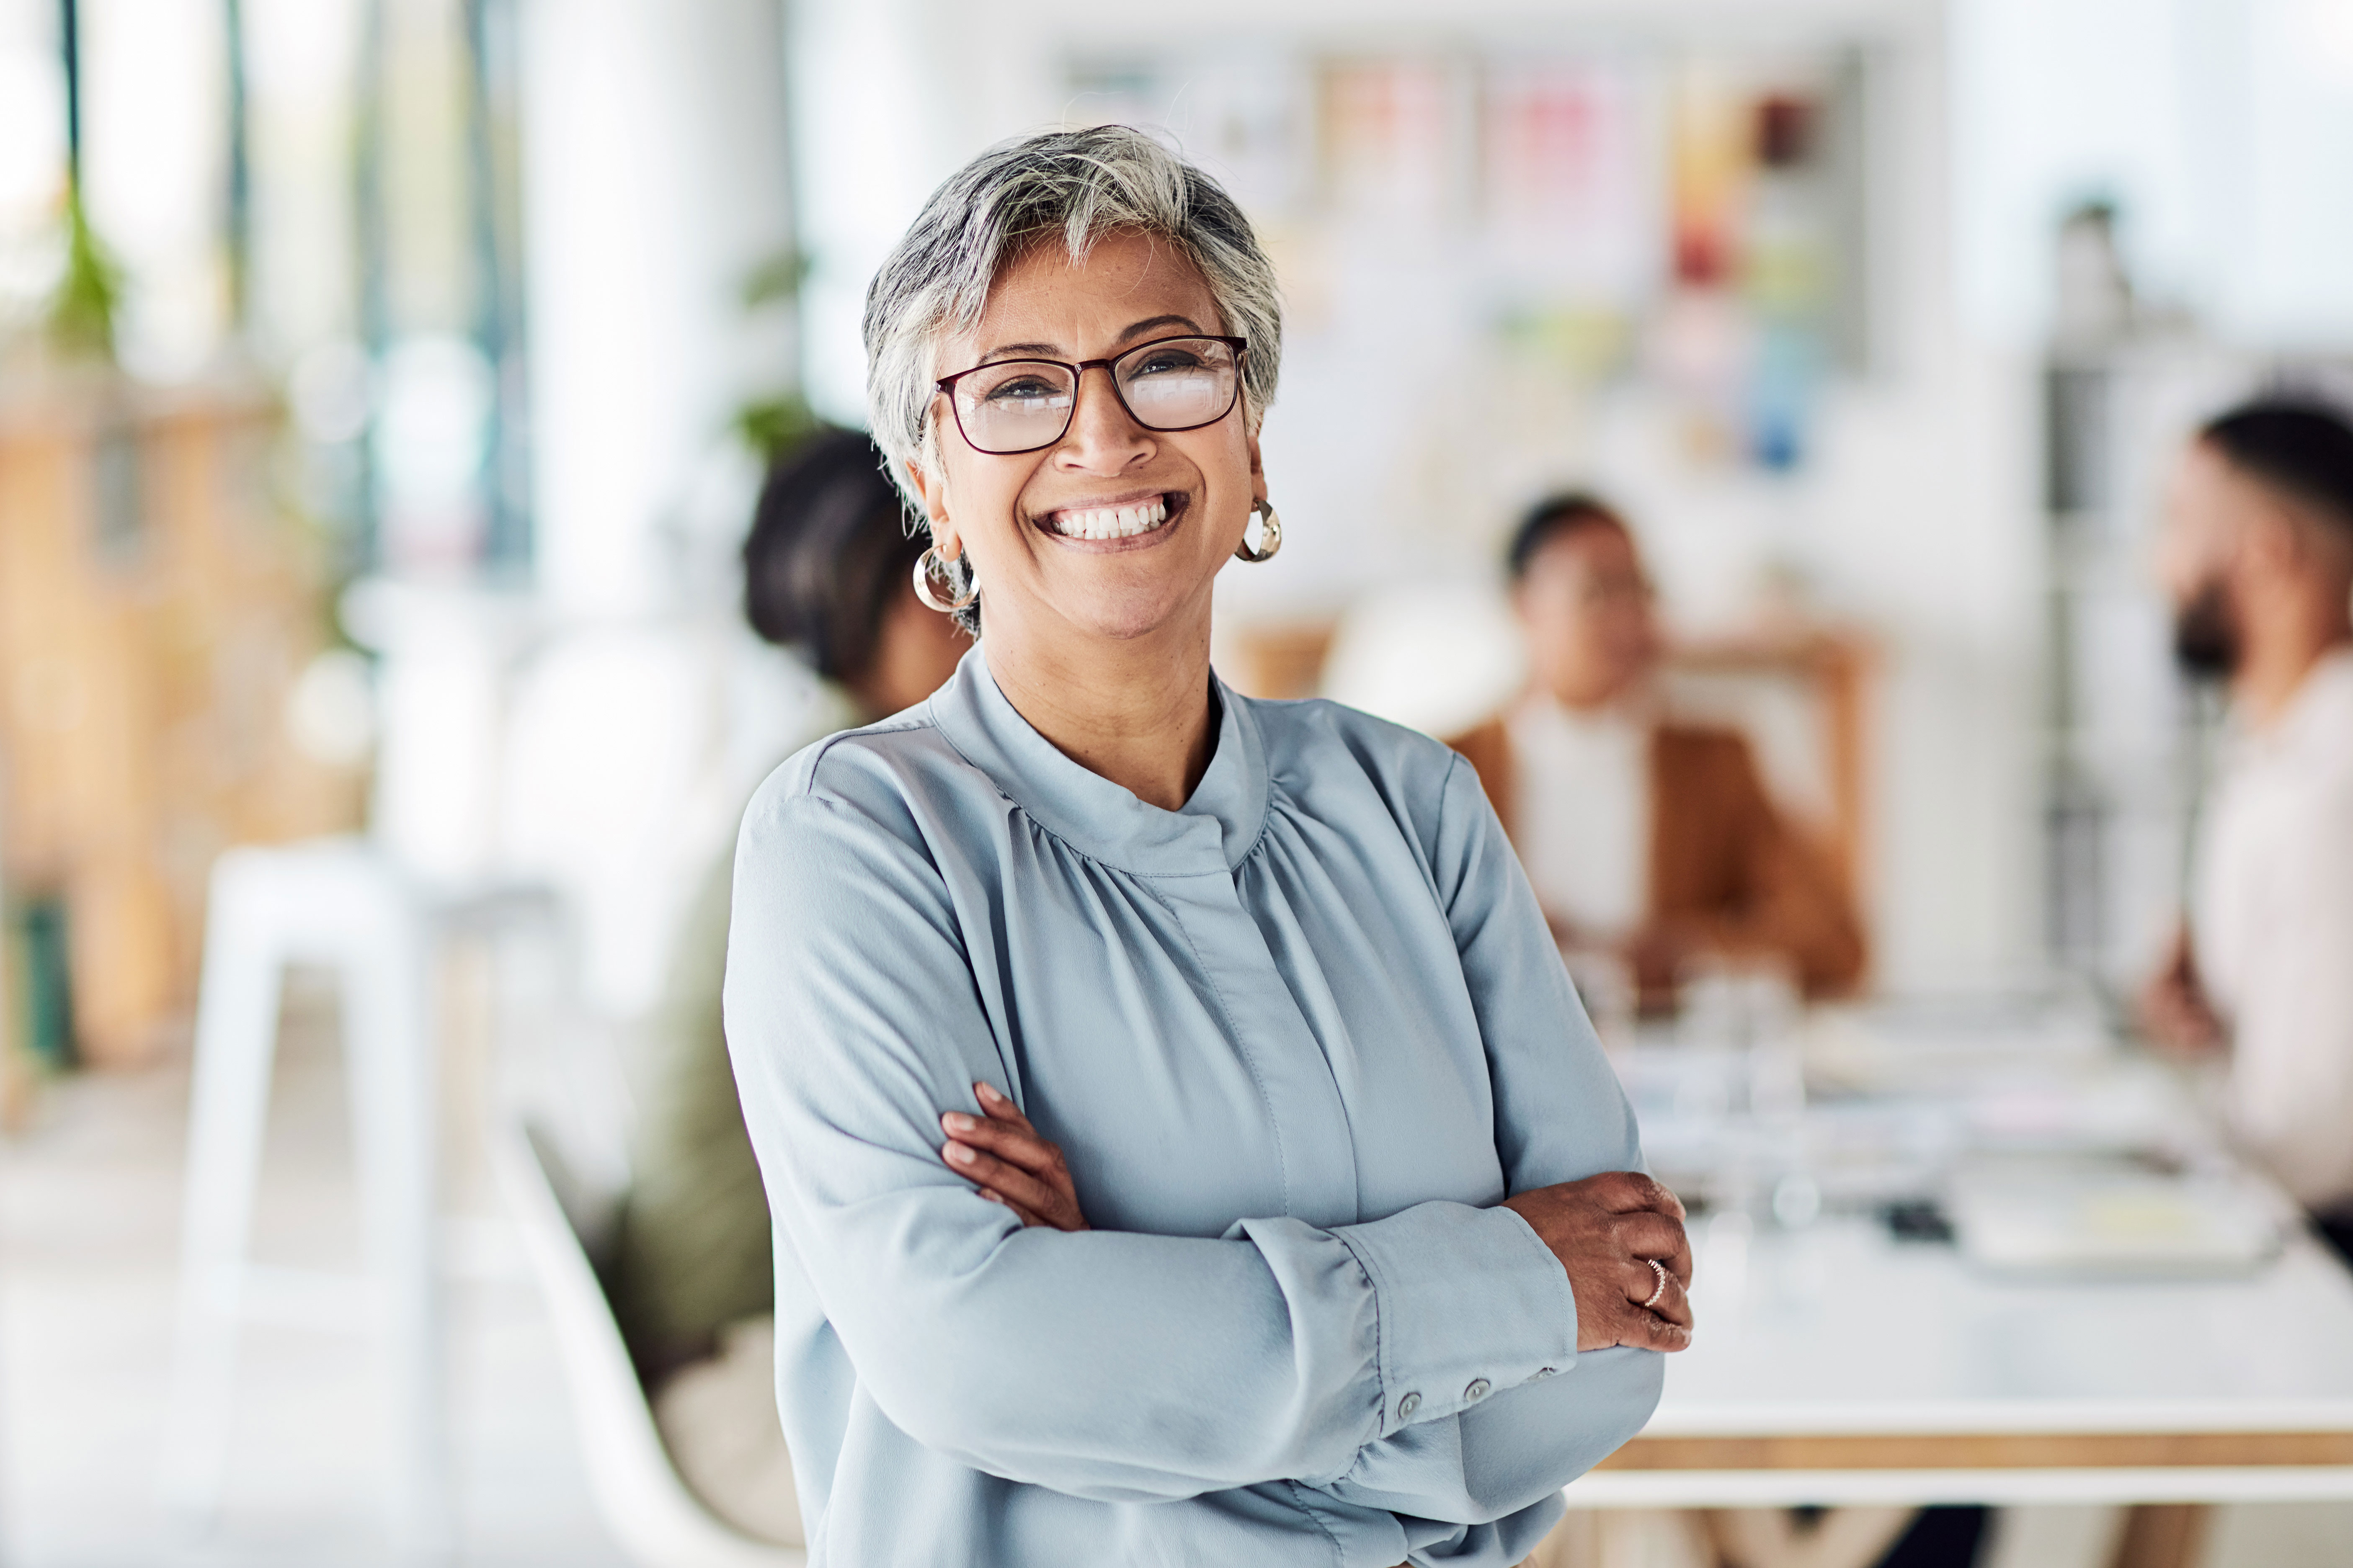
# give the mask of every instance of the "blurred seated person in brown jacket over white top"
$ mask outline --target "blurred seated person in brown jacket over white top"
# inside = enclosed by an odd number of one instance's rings
[[[1633,529],[1591,496],[1553,496],[1508,567],[1529,691],[1454,750],[1562,945],[1624,954],[1645,1006],[1671,1004],[1699,957],[1784,961],[1809,997],[1849,990],[1861,926],[1765,797],[1748,743],[1657,708],[1659,623]]]

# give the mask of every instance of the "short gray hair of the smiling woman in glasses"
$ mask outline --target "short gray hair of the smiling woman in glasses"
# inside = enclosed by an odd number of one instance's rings
[[[1059,233],[1082,261],[1104,235],[1134,230],[1191,259],[1226,331],[1249,339],[1242,416],[1257,430],[1282,369],[1282,306],[1275,266],[1224,186],[1125,125],[1002,141],[932,193],[866,289],[866,421],[918,517],[922,498],[906,465],[939,473],[939,336],[981,320],[988,287],[1031,242]]]

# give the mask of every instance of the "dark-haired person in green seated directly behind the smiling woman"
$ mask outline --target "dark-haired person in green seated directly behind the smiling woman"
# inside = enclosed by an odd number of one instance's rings
[[[746,618],[831,686],[814,729],[786,752],[920,703],[969,646],[915,597],[922,541],[908,536],[880,463],[864,433],[812,435],[769,475],[744,541]],[[767,1326],[767,1199],[720,1032],[732,835],[727,849],[680,929],[642,1041],[609,1288],[680,1476],[729,1523],[798,1542]]]

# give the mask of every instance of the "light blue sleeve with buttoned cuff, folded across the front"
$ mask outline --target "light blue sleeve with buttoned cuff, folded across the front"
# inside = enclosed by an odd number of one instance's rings
[[[1419,1204],[1221,1239],[1024,1229],[939,1159],[1005,1084],[920,835],[772,780],[736,851],[727,1041],[788,1246],[915,1441],[1094,1500],[1337,1481],[1367,1443],[1577,1349],[1511,1211]]]

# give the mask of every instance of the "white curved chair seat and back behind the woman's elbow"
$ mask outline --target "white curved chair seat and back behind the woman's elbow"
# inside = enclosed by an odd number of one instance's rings
[[[802,1568],[805,1552],[734,1530],[678,1479],[598,1272],[616,1197],[581,1182],[527,1121],[499,1128],[492,1168],[555,1321],[581,1455],[621,1549],[642,1568]]]

